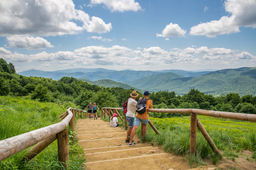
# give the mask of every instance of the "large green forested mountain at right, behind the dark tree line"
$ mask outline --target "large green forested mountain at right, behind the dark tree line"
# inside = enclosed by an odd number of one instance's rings
[[[195,88],[215,96],[227,93],[256,95],[256,68],[223,69],[197,77],[174,75],[162,73],[127,84],[140,89],[175,91],[176,94],[185,94]]]

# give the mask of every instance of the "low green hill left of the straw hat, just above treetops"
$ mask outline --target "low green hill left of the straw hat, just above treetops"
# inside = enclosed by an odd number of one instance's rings
[[[132,87],[128,84],[124,84],[124,83],[120,83],[120,82],[116,82],[116,81],[113,81],[113,80],[109,80],[109,79],[103,79],[103,80],[97,80],[97,81],[92,81],[92,80],[86,80],[86,79],[78,79],[78,80],[83,80],[83,81],[86,81],[87,83],[90,83],[90,84],[96,84],[98,86],[103,86],[103,87],[109,87],[109,88],[112,88],[112,87],[122,87],[123,89],[134,89],[138,92],[141,92],[143,93],[145,90],[141,90],[141,89],[137,89],[135,87]]]

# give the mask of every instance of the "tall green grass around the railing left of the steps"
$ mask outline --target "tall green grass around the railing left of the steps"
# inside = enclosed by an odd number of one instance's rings
[[[39,102],[25,97],[0,96],[0,140],[58,123],[59,115],[66,110],[67,108],[56,103]],[[68,127],[68,134],[71,133]],[[2,160],[0,169],[63,169],[58,161],[57,140],[28,163],[24,163],[22,159],[30,148]],[[83,148],[78,143],[72,144],[70,139],[69,159],[68,169],[83,168]]]

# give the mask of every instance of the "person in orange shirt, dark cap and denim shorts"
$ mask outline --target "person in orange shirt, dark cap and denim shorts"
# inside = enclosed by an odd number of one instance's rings
[[[149,92],[145,91],[143,93],[143,96],[146,99],[148,99]],[[149,109],[149,108],[153,108],[153,101],[150,100],[150,99],[147,100],[147,104],[146,104],[146,109]],[[136,143],[133,142],[133,138],[134,138],[134,135],[135,135],[135,132],[136,132],[137,128],[140,126],[140,122],[143,123],[143,130],[142,130],[143,131],[143,137],[145,136],[146,131],[147,131],[147,122],[148,121],[149,121],[149,116],[148,116],[147,110],[143,114],[137,113],[135,115],[134,127],[133,127],[133,130],[131,132],[131,138],[130,138],[129,146],[133,146],[133,145],[136,144]]]

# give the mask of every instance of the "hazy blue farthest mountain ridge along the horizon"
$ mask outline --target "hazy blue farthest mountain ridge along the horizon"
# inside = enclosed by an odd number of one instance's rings
[[[18,74],[22,76],[36,76],[36,77],[45,77],[53,80],[59,80],[62,77],[73,77],[76,79],[87,79],[87,80],[102,80],[109,79],[117,82],[125,83],[127,81],[138,80],[143,77],[151,76],[154,74],[161,74],[166,72],[173,72],[184,77],[199,76],[207,74],[211,71],[185,71],[185,70],[160,70],[160,71],[134,71],[131,69],[125,69],[121,71],[109,70],[109,69],[87,69],[87,68],[76,68],[76,69],[65,69],[65,70],[56,70],[56,71],[41,71],[41,70],[27,70],[19,72]]]

